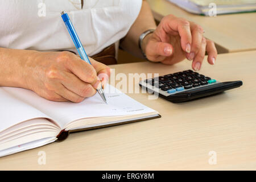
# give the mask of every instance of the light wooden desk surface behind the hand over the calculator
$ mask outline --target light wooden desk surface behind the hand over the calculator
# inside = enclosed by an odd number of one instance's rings
[[[256,13],[207,17],[187,13],[167,0],[147,0],[156,20],[174,14],[200,24],[221,53],[256,50]]]

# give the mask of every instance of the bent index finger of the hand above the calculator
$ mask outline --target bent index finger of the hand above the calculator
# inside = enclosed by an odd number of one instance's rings
[[[167,34],[174,35],[175,31],[178,32],[181,38],[181,48],[187,53],[191,52],[192,35],[188,20],[168,15],[161,22]]]

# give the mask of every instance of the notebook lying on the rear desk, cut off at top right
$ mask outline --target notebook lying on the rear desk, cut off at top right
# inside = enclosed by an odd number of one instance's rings
[[[168,0],[189,13],[209,16],[216,5],[216,14],[230,14],[256,11],[256,0]]]

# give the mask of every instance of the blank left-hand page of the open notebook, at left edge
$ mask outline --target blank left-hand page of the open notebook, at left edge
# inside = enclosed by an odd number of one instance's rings
[[[7,93],[4,87],[0,87],[0,132],[33,118],[48,118],[48,116],[25,102],[16,99]]]

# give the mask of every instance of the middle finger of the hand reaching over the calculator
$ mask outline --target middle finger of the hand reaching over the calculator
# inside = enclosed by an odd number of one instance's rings
[[[191,52],[187,53],[188,60],[193,60],[197,52],[200,50],[201,42],[204,34],[203,28],[193,22],[191,22],[191,31],[192,31],[192,46],[191,46]]]

